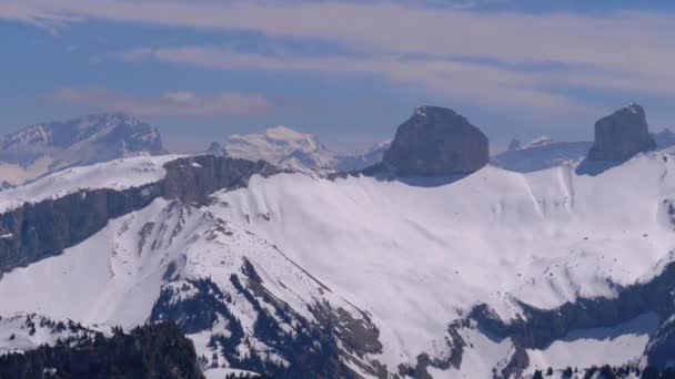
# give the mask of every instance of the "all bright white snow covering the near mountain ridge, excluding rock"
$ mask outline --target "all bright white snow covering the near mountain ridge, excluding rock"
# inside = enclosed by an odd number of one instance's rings
[[[73,168],[0,193],[0,204],[16,204],[6,196],[12,191],[36,201],[80,187],[148,183],[163,176],[162,160],[169,157]],[[308,318],[308,304],[319,298],[354,317],[354,307],[370,313],[384,346],[372,358],[397,367],[421,352],[445,355],[449,322],[477,303],[510,320],[520,313],[514,299],[553,308],[580,296],[615,296],[612,283],[654,277],[675,249],[667,212],[674,165],[671,155],[651,153],[596,176],[577,174],[576,164],[528,174],[486,166],[462,178],[253,176],[249,187],[220,192],[200,209],[158,198],[59,256],[4,274],[0,315],[139,325],[173,263],[177,288],[184,287],[181,279],[211,277],[233,294],[239,306],[232,309],[251,330],[255,310],[229,280],[245,258],[274,296]],[[214,329],[226,332],[221,321]],[[624,329],[616,337],[606,330],[606,338],[598,330],[570,336],[532,357],[540,365],[591,352],[626,361],[644,348],[646,332]],[[472,345],[462,369],[433,371],[436,377],[490,377],[510,355],[507,339],[463,332]],[[191,338],[211,357],[208,336]]]

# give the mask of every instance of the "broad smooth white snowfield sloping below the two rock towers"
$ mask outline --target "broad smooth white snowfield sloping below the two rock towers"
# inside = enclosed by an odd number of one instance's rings
[[[675,248],[663,203],[675,198],[673,158],[638,156],[597,176],[575,168],[486,166],[444,185],[254,176],[248,188],[220,193],[229,206],[211,211],[364,305],[394,365],[427,351],[478,301],[511,319],[513,298],[551,308],[614,296],[607,279],[655,274]]]

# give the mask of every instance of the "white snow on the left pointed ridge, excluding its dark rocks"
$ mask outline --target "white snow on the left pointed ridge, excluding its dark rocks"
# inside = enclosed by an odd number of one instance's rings
[[[246,338],[239,346],[242,357],[255,349],[268,351],[266,359],[283,362],[254,335],[260,310],[232,281],[232,275],[242,276],[244,281],[244,263],[256,267],[255,275],[274,298],[283,299],[305,318],[314,319],[309,309],[318,301],[328,301],[355,319],[363,317],[263,238],[180,201],[158,198],[141,211],[111,221],[59,256],[4,274],[0,279],[0,319],[37,313],[88,326],[131,328],[151,319],[162,290],[175,291],[170,303],[177,304],[208,295],[200,294],[192,281],[208,279],[236,305],[230,311],[245,330]],[[294,321],[278,321],[290,334],[300,327]],[[208,329],[190,336],[200,357],[212,356],[211,337],[230,334],[229,326],[228,319],[219,317]],[[0,337],[14,329],[0,325]],[[218,363],[228,361],[221,355]]]

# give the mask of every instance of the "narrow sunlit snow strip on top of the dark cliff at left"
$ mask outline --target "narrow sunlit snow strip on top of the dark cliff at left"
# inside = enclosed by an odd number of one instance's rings
[[[181,155],[135,156],[91,166],[67,168],[30,184],[0,192],[0,212],[58,198],[84,188],[125,190],[160,181],[167,175],[164,163]]]

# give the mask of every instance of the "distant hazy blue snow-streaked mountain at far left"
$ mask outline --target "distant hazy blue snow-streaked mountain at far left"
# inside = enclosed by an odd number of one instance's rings
[[[0,183],[7,187],[66,167],[162,152],[157,129],[123,113],[41,123],[0,139]]]

